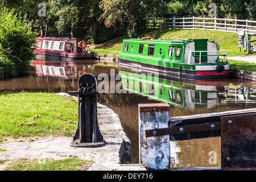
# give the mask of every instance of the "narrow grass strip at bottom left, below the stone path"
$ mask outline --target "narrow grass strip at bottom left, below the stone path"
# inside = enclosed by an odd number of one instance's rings
[[[62,160],[18,159],[9,163],[5,171],[80,171],[90,166],[92,160],[68,158]]]

